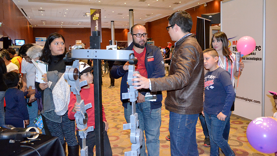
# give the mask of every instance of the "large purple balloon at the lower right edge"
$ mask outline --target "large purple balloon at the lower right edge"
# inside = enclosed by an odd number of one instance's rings
[[[268,117],[252,120],[246,129],[250,145],[262,153],[277,152],[277,122]]]

